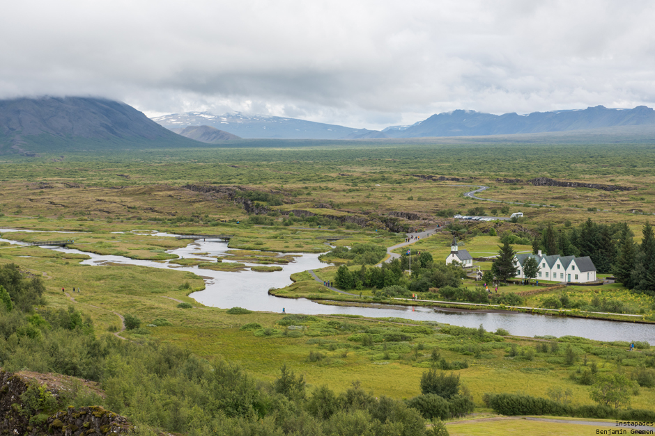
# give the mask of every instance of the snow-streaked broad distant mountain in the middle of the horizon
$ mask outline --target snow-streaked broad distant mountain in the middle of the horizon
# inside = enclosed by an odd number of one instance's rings
[[[211,126],[241,138],[340,139],[358,129],[299,120],[298,118],[243,115],[239,112],[213,115],[208,112],[185,112],[153,118],[167,129]]]

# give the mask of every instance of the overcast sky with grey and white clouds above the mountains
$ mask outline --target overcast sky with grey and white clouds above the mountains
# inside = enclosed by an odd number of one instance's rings
[[[653,1],[10,1],[0,98],[94,95],[379,129],[655,106]]]

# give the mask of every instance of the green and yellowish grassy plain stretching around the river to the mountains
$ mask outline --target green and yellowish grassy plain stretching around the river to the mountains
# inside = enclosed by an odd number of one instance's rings
[[[66,154],[64,159],[54,155],[2,159],[0,229],[43,232],[9,234],[0,230],[0,237],[25,242],[72,239],[75,243],[71,247],[83,252],[153,261],[173,259],[180,265],[210,268],[239,269],[243,263],[257,263],[268,269],[293,261],[294,252],[330,250],[324,239],[327,236],[348,236],[331,242],[332,245],[378,243],[387,247],[404,239],[401,232],[390,231],[392,227],[431,229],[452,223],[452,213],[467,213],[474,207],[484,207],[488,215],[500,215],[500,203],[465,199],[463,193],[470,191],[466,185],[490,186],[482,197],[521,203],[510,204],[509,213],[525,214],[518,223],[468,225],[468,232],[460,241],[462,248],[474,257],[498,252],[500,236],[489,236],[491,227],[498,235],[532,234],[548,222],[563,229],[579,225],[591,216],[598,223],[626,221],[635,232],[635,241],[639,241],[641,226],[649,218],[644,213],[655,212],[655,149],[649,145],[487,147],[364,143],[330,148],[249,148],[247,153],[226,148],[148,150],[106,156]],[[422,175],[463,180],[431,181],[419,177]],[[502,177],[521,181],[498,181]],[[532,177],[636,189],[532,186],[527,184]],[[187,185],[223,186],[229,190],[203,192]],[[256,224],[239,202],[245,197],[231,197],[234,193],[263,199],[252,200],[252,207],[266,208],[260,217],[270,219],[270,225]],[[527,207],[526,203],[553,207]],[[316,218],[291,222],[290,211],[295,211],[295,216],[305,211]],[[318,222],[319,218],[323,224]],[[237,250],[216,262],[180,260],[167,251],[184,247],[187,241],[143,234],[154,230],[228,234],[233,236],[229,246]],[[417,241],[412,248],[428,251],[441,261],[449,253],[451,241],[451,232],[440,230]],[[514,249],[532,251],[530,245],[515,245]],[[406,249],[396,252],[403,250]],[[42,248],[0,246],[1,264],[13,262],[25,273],[43,277],[49,302],[54,307],[75,305],[88,312],[97,334],[120,328],[114,312],[137,314],[142,326],[165,318],[171,326],[145,327],[146,330],[124,335],[134,341],[169,341],[208,359],[222,356],[265,380],[275,378],[279,367],[287,364],[302,373],[311,387],[329,385],[344,391],[350,382],[360,380],[365,389],[376,395],[410,398],[419,393],[423,371],[435,364],[432,351],[437,349],[448,364],[468,364],[454,371],[461,374],[481,410],[481,397],[486,392],[546,396],[555,385],[571,389],[574,403],[591,404],[589,387],[574,380],[578,371],[596,364],[601,373],[631,373],[652,358],[649,349],[631,355],[625,351],[626,344],[576,338],[561,339],[557,341],[558,351],[544,352],[537,350],[543,342],[539,339],[488,334],[488,340],[478,340],[472,332],[452,334],[443,325],[401,319],[320,316],[288,321],[282,314],[265,312],[231,315],[224,309],[203,307],[188,297],[192,291],[203,289],[198,275],[141,266],[82,266],[82,259],[84,255]],[[226,259],[238,263],[222,261]],[[484,269],[491,266],[488,261],[477,264]],[[336,269],[327,267],[316,273],[321,280],[333,280]],[[295,284],[276,291],[280,296],[344,298],[314,281],[308,273],[298,273],[293,278]],[[465,285],[476,286],[475,282]],[[80,287],[82,292],[72,294],[72,287]],[[525,288],[532,290],[530,286],[512,284],[501,286],[499,292],[520,293]],[[635,296],[619,285],[594,289],[570,286],[564,291],[544,287],[543,292],[527,296],[525,304],[539,307],[549,296],[560,298],[563,292],[571,299],[619,299],[626,310],[644,316],[652,316],[655,306],[652,297]],[[371,290],[362,290],[362,297],[367,296],[371,296]],[[180,301],[195,307],[180,308]],[[242,330],[252,323],[259,326]],[[371,342],[364,341],[362,335],[368,335]],[[576,362],[570,365],[564,363],[562,355],[569,344],[576,353]],[[310,352],[315,353],[315,360],[310,359]],[[655,388],[651,387],[642,387],[631,397],[633,407],[652,409],[654,401]],[[548,424],[551,425],[557,426],[548,434],[592,431],[592,427],[580,430],[578,424]],[[452,435],[541,434],[545,428],[536,421],[518,419],[449,424]]]

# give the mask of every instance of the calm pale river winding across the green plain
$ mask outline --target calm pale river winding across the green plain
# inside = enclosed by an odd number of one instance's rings
[[[6,232],[0,229],[0,232]],[[169,236],[169,234],[153,234],[154,236]],[[6,235],[5,235],[6,236]],[[174,235],[170,235],[174,236]],[[9,241],[0,239],[0,241]],[[81,252],[70,248],[49,248],[61,252],[80,253],[91,259],[82,264],[102,265],[106,262],[150,266],[152,268],[175,268],[174,264],[154,261],[141,261],[121,256],[100,256]],[[215,260],[211,255],[229,255],[227,243],[213,241],[195,241],[185,248],[170,250],[180,257],[194,257]],[[207,253],[196,255],[195,253]],[[268,295],[271,287],[282,288],[291,284],[289,275],[308,269],[323,268],[326,264],[318,261],[318,255],[297,253],[295,262],[283,265],[282,271],[272,273],[256,273],[254,271],[224,272],[199,269],[195,266],[175,268],[181,271],[191,271],[205,280],[206,289],[194,292],[190,296],[203,305],[221,307],[245,307],[246,309],[282,312],[284,307],[288,314],[351,314],[371,318],[396,317],[422,321],[438,321],[452,325],[477,328],[480,324],[486,330],[504,328],[511,334],[533,337],[550,334],[553,336],[573,335],[598,339],[601,341],[649,341],[655,344],[655,326],[647,324],[619,323],[616,321],[598,321],[582,318],[566,318],[530,314],[480,314],[475,312],[444,312],[425,307],[341,307],[321,305],[305,299],[278,298]],[[246,265],[252,265],[247,264]]]

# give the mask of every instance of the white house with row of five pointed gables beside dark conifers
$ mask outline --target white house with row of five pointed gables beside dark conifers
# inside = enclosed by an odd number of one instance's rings
[[[523,265],[532,257],[537,261],[539,272],[537,280],[550,280],[567,283],[587,283],[596,281],[596,266],[589,256],[544,256],[539,251],[538,255],[516,255],[514,265],[517,266],[516,277],[524,279]]]

